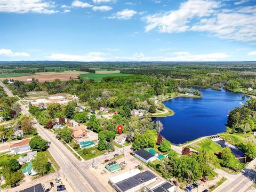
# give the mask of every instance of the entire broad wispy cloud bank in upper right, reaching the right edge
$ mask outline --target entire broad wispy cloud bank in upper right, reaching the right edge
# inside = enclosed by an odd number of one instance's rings
[[[157,28],[160,33],[188,30],[206,31],[222,39],[256,42],[256,6],[219,9],[219,1],[188,0],[178,10],[148,15],[146,31]]]

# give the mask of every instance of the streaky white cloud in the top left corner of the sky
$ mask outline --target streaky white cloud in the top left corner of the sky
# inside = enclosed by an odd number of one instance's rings
[[[0,12],[5,13],[57,13],[54,3],[45,0],[1,0]]]

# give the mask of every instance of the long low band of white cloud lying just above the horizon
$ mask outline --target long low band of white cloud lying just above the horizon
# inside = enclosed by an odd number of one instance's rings
[[[105,53],[90,52],[85,55],[52,53],[46,58],[62,61],[221,61],[231,57],[226,53],[191,54],[189,52],[174,52],[172,57],[147,57],[142,52],[136,52],[131,57],[106,57]]]

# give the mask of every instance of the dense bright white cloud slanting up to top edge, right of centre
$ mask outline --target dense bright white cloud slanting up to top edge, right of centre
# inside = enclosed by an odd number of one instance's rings
[[[146,31],[154,28],[158,28],[161,33],[186,31],[189,29],[187,24],[191,19],[209,16],[219,6],[220,3],[215,1],[188,0],[187,2],[181,3],[180,8],[176,11],[145,17],[144,19],[148,23]]]

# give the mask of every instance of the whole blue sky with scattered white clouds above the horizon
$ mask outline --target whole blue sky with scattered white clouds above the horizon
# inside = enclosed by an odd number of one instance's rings
[[[255,61],[256,0],[0,0],[0,61]]]

